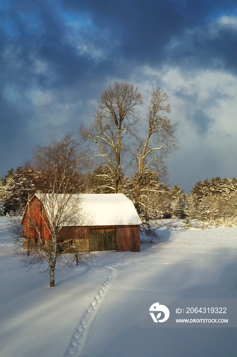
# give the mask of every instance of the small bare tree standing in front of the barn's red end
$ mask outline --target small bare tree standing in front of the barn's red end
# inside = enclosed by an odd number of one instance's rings
[[[60,142],[51,140],[48,146],[37,146],[34,150],[35,169],[42,175],[42,188],[33,199],[29,199],[20,222],[12,220],[12,232],[16,245],[23,250],[21,262],[31,269],[38,265],[50,275],[50,287],[55,286],[55,270],[58,266],[68,266],[75,259],[77,264],[86,264],[91,256],[88,247],[82,244],[83,229],[76,229],[85,223],[81,211],[82,201],[78,165],[80,157],[77,144],[71,134],[66,134]],[[77,251],[75,242],[80,242]]]

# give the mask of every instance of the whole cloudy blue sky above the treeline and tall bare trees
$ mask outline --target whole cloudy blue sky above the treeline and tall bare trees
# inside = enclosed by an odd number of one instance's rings
[[[170,185],[236,177],[236,10],[229,0],[0,2],[0,176],[87,125],[100,93],[125,81],[145,101],[152,86],[169,94],[180,143]]]

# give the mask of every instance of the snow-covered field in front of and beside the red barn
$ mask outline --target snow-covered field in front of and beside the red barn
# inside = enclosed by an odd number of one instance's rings
[[[237,227],[177,225],[140,253],[96,253],[50,289],[19,268],[0,217],[0,356],[236,357],[235,328],[139,327],[140,298],[237,298]]]

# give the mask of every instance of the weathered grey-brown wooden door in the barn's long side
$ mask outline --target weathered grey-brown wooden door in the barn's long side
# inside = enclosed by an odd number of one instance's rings
[[[116,228],[90,229],[90,251],[117,250]]]

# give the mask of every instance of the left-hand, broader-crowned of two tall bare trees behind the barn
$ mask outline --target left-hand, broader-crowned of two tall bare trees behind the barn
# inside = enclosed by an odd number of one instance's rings
[[[82,140],[94,144],[92,158],[102,158],[109,169],[115,193],[121,192],[121,156],[127,152],[125,137],[137,130],[140,104],[142,97],[137,87],[115,82],[101,93],[92,124],[79,130]]]

